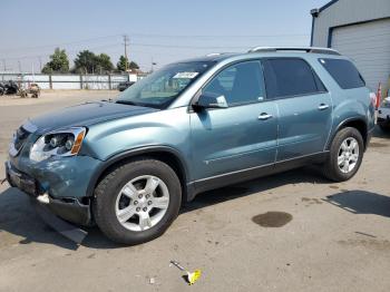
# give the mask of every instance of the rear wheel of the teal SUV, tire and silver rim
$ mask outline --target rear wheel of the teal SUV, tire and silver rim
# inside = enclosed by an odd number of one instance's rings
[[[348,144],[349,142],[351,144]],[[358,154],[355,148],[351,150],[352,145],[354,145],[352,142],[357,143]],[[345,145],[349,146],[349,149],[343,150]],[[334,182],[344,182],[352,178],[360,168],[363,154],[364,143],[360,132],[351,127],[340,129],[333,138],[329,157],[323,165],[324,176]]]

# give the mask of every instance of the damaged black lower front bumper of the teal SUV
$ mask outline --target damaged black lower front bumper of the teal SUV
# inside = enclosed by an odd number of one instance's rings
[[[52,197],[39,181],[20,172],[10,162],[6,163],[6,177],[12,187],[19,188],[36,203],[59,217],[80,225],[91,225],[92,218],[88,198],[82,199],[81,203],[81,198],[77,197]]]

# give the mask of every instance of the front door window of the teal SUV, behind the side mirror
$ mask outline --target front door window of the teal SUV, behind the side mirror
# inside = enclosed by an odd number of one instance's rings
[[[264,97],[264,78],[260,61],[232,65],[218,72],[203,93],[224,96],[228,106],[257,103]]]

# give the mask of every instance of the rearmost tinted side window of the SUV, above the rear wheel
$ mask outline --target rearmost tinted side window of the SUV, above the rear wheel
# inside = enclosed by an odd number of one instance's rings
[[[359,74],[357,67],[343,59],[320,59],[320,64],[333,77],[342,89],[364,87],[364,79]]]

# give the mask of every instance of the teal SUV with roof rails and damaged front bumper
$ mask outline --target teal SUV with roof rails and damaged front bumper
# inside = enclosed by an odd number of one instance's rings
[[[254,48],[168,65],[115,100],[28,119],[11,186],[113,241],[162,235],[196,194],[308,164],[359,169],[374,127],[364,80],[322,48]]]

